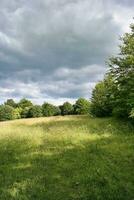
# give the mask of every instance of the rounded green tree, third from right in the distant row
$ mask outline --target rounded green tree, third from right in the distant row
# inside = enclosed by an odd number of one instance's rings
[[[44,103],[42,105],[42,113],[45,117],[54,116],[56,115],[56,107],[52,104]]]

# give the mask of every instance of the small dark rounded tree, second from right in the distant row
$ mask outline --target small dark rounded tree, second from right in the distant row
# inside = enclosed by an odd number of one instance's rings
[[[73,106],[69,102],[65,102],[62,106],[60,106],[62,115],[71,115],[73,114]]]

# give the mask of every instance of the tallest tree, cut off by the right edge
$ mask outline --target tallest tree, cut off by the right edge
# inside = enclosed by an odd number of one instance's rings
[[[131,32],[121,38],[120,54],[109,61],[116,88],[113,114],[118,117],[128,117],[134,108],[134,24],[130,27]]]

